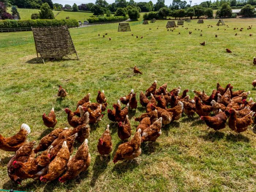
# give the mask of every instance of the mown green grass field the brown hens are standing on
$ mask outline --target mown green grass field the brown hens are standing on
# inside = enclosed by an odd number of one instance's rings
[[[139,95],[155,79],[158,87],[168,83],[168,90],[178,86],[182,91],[189,89],[191,97],[193,89],[204,89],[210,94],[217,81],[222,86],[231,83],[234,89],[251,91],[255,99],[251,82],[255,79],[252,59],[256,56],[256,19],[224,21],[229,28],[216,26],[217,19],[213,19],[204,20],[204,24],[192,20],[173,32],[165,29],[166,21],[134,25],[131,32],[117,32],[117,24],[70,29],[80,60],[68,56],[46,64],[36,59],[32,32],[2,33],[1,134],[15,134],[26,123],[31,127],[29,140],[38,143],[52,131],[42,122],[42,114],[52,107],[58,120],[56,128],[69,127],[64,108],[75,110],[76,102],[85,94],[91,93],[91,101],[95,102],[97,91],[105,90],[108,107],[112,109],[112,104],[132,88]],[[207,25],[214,27],[207,28]],[[246,29],[249,25],[253,25],[251,30]],[[234,31],[234,27],[245,30]],[[195,28],[203,30],[203,35]],[[108,35],[103,38],[105,33]],[[253,35],[249,37],[249,33]],[[206,46],[200,46],[203,41]],[[233,53],[226,53],[225,48]],[[133,75],[135,64],[142,75]],[[56,97],[59,84],[69,93],[65,99]],[[144,112],[139,104],[137,113],[129,113],[132,135],[138,125],[134,117]],[[110,124],[113,151],[110,161],[103,163],[99,160],[97,143],[107,124]],[[148,147],[142,144],[142,154],[134,162],[114,165],[114,153],[122,142],[117,127],[104,116],[98,125],[91,126],[88,140],[92,162],[78,179],[66,184],[26,180],[17,186],[8,178],[6,168],[14,153],[0,151],[0,188],[38,192],[256,191],[256,130],[248,129],[237,136],[227,135],[230,129],[226,127],[213,135],[204,131],[206,127],[197,115],[192,119],[182,116],[162,128],[156,142]],[[76,143],[75,148],[78,146]]]

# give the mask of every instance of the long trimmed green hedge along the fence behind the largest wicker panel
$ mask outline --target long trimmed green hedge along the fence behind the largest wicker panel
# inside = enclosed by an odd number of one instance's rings
[[[0,28],[46,27],[46,26],[61,26],[61,25],[67,25],[68,27],[71,27],[71,26],[78,27],[79,23],[76,19],[0,20]]]

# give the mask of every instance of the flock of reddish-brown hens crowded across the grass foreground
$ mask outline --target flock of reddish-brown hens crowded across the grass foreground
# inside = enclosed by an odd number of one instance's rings
[[[253,64],[256,65],[255,57],[253,57]],[[142,74],[136,65],[133,72]],[[252,85],[256,87],[256,79],[253,80]],[[195,113],[198,114],[208,126],[207,129],[214,129],[214,133],[225,128],[226,122],[231,129],[230,132],[236,133],[244,132],[250,125],[256,124],[256,102],[252,98],[247,101],[250,91],[233,91],[233,86],[230,84],[224,88],[219,83],[217,83],[217,89],[214,89],[210,96],[204,91],[193,90],[195,97],[190,99],[187,89],[181,95],[180,91],[181,87],[167,91],[167,83],[157,89],[156,80],[145,93],[141,91],[139,102],[146,108],[146,113],[135,118],[135,121],[140,123],[136,128],[135,135],[129,141],[132,127],[128,112],[136,110],[138,107],[134,90],[114,103],[113,109],[107,110],[109,120],[118,123],[118,137],[124,142],[127,141],[118,146],[113,158],[114,163],[138,157],[141,154],[141,143],[155,142],[161,135],[162,125],[165,126],[172,121],[179,120],[182,113],[188,117],[193,117]],[[65,98],[68,93],[59,86],[57,95]],[[4,138],[0,135],[0,149],[16,152],[7,165],[11,180],[17,184],[21,184],[22,180],[27,178],[42,182],[59,178],[60,182],[65,182],[86,171],[91,162],[87,140],[90,135],[89,123],[97,124],[101,121],[102,112],[108,105],[104,91],[98,91],[96,100],[97,103],[90,102],[90,93],[88,93],[77,102],[74,112],[66,108],[67,120],[72,128],[54,129],[44,136],[35,148],[35,141],[26,141],[30,133],[30,127],[26,124],[22,124],[20,131],[14,136]],[[123,109],[121,103],[125,105]],[[46,127],[54,128],[57,123],[54,109],[52,108],[48,115],[44,113],[42,119]],[[71,158],[75,140],[82,144]],[[99,138],[97,149],[102,161],[103,156],[111,153],[112,139],[109,125],[106,126]],[[39,152],[41,154],[35,157],[35,154]]]

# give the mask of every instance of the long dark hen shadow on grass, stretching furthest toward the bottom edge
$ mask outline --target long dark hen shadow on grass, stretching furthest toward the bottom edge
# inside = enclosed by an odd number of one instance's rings
[[[93,177],[91,178],[90,186],[94,187],[98,177],[103,173],[108,167],[110,161],[110,155],[103,157],[103,161],[100,159],[100,155],[97,155],[94,165],[93,165]]]

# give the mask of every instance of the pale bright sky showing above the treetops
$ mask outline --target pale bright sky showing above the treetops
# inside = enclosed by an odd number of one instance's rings
[[[114,3],[114,0],[106,0],[108,3]],[[129,0],[126,0],[129,1]],[[148,2],[150,0],[135,0],[136,2]],[[189,0],[186,0],[187,3],[189,4]],[[200,4],[201,2],[203,2],[205,0],[192,0],[192,4],[191,5],[195,5],[195,3]],[[82,3],[95,3],[95,0],[52,0],[53,3],[60,3],[62,5],[65,4],[70,4],[73,5],[74,3],[76,3],[77,5],[80,5]],[[155,4],[157,2],[157,0],[152,0],[152,2]],[[172,2],[172,0],[165,0],[165,4],[166,5],[170,5]]]

